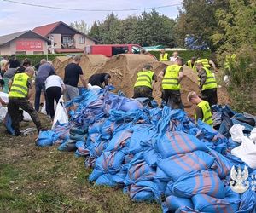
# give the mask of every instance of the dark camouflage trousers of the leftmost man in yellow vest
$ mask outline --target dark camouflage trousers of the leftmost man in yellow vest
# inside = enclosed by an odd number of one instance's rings
[[[36,124],[38,131],[42,129],[40,119],[38,118],[38,112],[33,108],[31,102],[26,98],[9,98],[8,112],[12,119],[12,127],[15,130],[15,134],[20,133],[20,111],[19,108],[25,110],[32,118],[34,124]]]

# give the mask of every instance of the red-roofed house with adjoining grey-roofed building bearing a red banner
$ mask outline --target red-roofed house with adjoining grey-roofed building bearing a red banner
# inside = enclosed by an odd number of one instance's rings
[[[84,53],[85,46],[95,43],[96,39],[58,21],[32,31],[0,36],[0,55]]]

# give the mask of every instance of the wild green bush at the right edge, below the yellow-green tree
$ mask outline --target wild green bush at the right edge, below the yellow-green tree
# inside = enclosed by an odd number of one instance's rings
[[[230,76],[231,105],[239,112],[256,114],[256,50],[243,48],[226,73]]]

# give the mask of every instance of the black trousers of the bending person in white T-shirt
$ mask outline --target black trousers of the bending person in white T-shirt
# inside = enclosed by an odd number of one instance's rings
[[[49,103],[50,118],[55,118],[55,101],[58,103],[62,92],[60,87],[49,87],[46,89],[47,101]]]

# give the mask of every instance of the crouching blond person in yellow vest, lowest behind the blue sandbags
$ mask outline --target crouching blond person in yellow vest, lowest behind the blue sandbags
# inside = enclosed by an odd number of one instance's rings
[[[189,92],[188,101],[197,105],[195,108],[195,121],[201,119],[203,122],[212,126],[212,111],[209,103],[207,101],[201,100],[201,98],[194,91]]]

